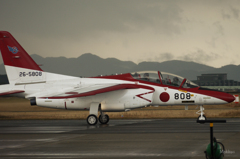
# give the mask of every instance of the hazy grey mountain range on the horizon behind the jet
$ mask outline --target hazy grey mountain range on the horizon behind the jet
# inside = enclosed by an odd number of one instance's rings
[[[46,57],[33,54],[31,57],[46,72],[92,77],[98,75],[110,75],[135,71],[156,70],[169,72],[197,80],[197,76],[206,73],[227,73],[228,79],[240,81],[240,65],[226,65],[215,68],[195,62],[172,60],[165,62],[141,62],[120,61],[116,58],[103,59],[91,53],[86,53],[78,58]],[[0,74],[6,74],[3,64],[0,65]]]

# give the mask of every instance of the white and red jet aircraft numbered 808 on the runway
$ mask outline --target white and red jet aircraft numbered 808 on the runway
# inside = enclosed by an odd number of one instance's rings
[[[202,88],[177,75],[145,71],[114,76],[79,78],[44,72],[6,31],[0,31],[0,50],[9,84],[0,86],[0,95],[30,100],[31,105],[57,109],[89,110],[87,123],[109,121],[104,112],[129,111],[161,105],[225,104],[230,94]],[[98,117],[98,111],[100,116]]]

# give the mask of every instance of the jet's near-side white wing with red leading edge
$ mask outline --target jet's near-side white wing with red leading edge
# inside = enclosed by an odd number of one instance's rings
[[[155,89],[149,86],[138,85],[138,84],[108,84],[108,85],[93,85],[91,87],[74,89],[72,91],[65,92],[64,94],[58,94],[53,96],[46,96],[41,98],[48,99],[64,99],[64,98],[78,98],[78,97],[87,97],[93,96],[101,93],[107,93],[116,90],[122,89],[147,89],[154,91]]]

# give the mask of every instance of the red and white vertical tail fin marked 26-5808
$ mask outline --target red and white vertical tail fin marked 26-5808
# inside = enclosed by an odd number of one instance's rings
[[[0,31],[0,51],[10,84],[44,81],[42,69],[7,31]]]

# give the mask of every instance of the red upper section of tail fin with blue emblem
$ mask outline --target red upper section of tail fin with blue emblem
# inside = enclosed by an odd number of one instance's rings
[[[5,65],[42,71],[17,40],[7,31],[0,31],[0,50]]]

